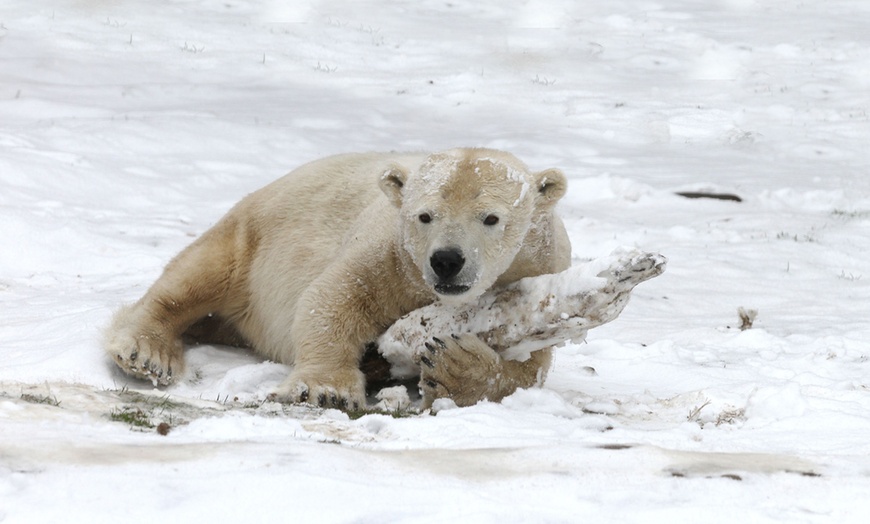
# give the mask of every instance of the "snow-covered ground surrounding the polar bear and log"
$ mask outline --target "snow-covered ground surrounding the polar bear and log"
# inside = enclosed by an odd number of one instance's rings
[[[863,522],[868,25],[864,0],[4,0],[0,521]],[[103,357],[247,192],[461,145],[564,169],[578,262],[670,260],[544,388],[350,420],[262,403],[286,369],[251,354],[192,349],[161,391]]]

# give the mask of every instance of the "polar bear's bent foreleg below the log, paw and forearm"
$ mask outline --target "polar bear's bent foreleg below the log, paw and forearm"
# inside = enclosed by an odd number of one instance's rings
[[[519,388],[543,383],[552,349],[540,349],[524,361],[505,360],[474,335],[433,338],[417,359],[423,409],[437,398],[450,398],[457,406],[481,400],[499,402]]]

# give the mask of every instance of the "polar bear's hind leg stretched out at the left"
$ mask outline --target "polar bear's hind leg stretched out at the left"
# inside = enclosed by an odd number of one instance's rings
[[[182,374],[182,333],[242,295],[237,240],[235,228],[218,224],[175,257],[144,297],[115,313],[103,347],[123,371],[155,385]]]

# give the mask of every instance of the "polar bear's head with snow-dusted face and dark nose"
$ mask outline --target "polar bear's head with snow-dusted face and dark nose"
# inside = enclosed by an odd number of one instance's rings
[[[477,298],[507,271],[537,219],[565,194],[557,169],[530,173],[487,149],[430,155],[414,170],[393,166],[380,186],[400,214],[400,242],[444,301]]]

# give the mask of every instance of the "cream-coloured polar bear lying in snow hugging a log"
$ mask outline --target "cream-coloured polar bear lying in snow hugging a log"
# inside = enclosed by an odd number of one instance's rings
[[[398,318],[569,267],[554,213],[566,186],[558,169],[534,173],[492,149],[314,161],[248,195],[170,261],[115,314],[104,348],[126,373],[167,385],[183,373],[183,339],[247,346],[292,366],[275,399],[364,407],[364,348]],[[450,335],[427,343],[427,403],[497,401],[549,368],[550,348],[502,361]]]

